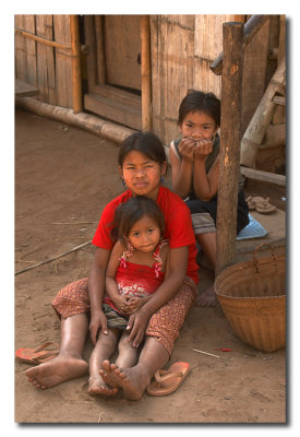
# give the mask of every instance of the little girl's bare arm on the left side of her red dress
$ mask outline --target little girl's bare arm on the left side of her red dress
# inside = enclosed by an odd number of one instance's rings
[[[106,269],[106,294],[111,298],[117,308],[123,311],[121,308],[125,304],[125,296],[121,296],[118,292],[116,282],[116,273],[120,263],[120,257],[124,251],[124,247],[120,241],[117,241],[111,250],[111,255]]]

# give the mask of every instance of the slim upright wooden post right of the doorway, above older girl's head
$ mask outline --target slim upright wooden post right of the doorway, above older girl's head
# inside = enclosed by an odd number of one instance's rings
[[[142,130],[152,130],[152,80],[151,80],[151,38],[149,17],[140,19],[141,33],[141,88],[142,88]]]

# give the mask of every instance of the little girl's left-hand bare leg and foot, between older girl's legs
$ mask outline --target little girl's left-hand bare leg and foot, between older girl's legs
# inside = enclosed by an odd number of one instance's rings
[[[97,343],[92,352],[89,358],[89,379],[88,379],[88,393],[89,394],[116,394],[117,389],[109,387],[99,375],[99,369],[105,359],[110,358],[116,350],[119,330],[108,329],[108,334],[99,333]]]

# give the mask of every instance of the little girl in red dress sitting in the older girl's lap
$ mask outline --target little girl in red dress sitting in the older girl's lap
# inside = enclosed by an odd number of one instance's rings
[[[103,304],[110,335],[100,332],[94,350],[100,362],[110,358],[119,340],[116,365],[132,367],[136,363],[137,349],[128,341],[129,316],[167,277],[169,245],[163,239],[164,229],[164,214],[152,199],[131,198],[116,210],[112,238],[117,241],[106,270]],[[111,388],[104,382],[99,392],[111,394]]]

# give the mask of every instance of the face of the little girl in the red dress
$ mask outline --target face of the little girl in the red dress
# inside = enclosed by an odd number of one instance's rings
[[[153,252],[159,243],[160,229],[153,218],[144,216],[132,226],[128,238],[136,250]]]

